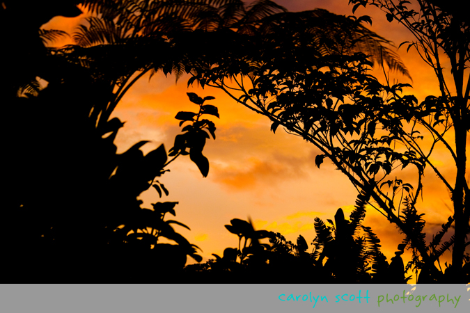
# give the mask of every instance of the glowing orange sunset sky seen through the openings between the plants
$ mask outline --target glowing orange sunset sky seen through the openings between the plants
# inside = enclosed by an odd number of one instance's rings
[[[347,0],[277,0],[276,3],[290,11],[324,8],[332,13],[352,15],[352,6],[348,6]],[[355,15],[370,15],[373,19],[370,29],[392,40],[397,47],[402,41],[412,40],[404,27],[387,22],[384,13],[377,8],[361,7]],[[55,17],[43,28],[72,33],[81,18]],[[64,40],[56,45],[65,43],[68,42]],[[427,95],[437,95],[439,89],[432,69],[413,49],[406,53],[406,46],[401,47],[399,54],[413,82],[394,73],[391,77],[412,83],[414,89],[407,93],[416,95],[420,102]],[[382,79],[382,70],[374,73]],[[319,151],[313,145],[286,134],[281,128],[273,134],[264,116],[235,103],[222,90],[202,89],[196,85],[187,88],[187,79],[181,77],[175,83],[174,76],[165,77],[159,72],[150,82],[147,75],[136,83],[115,110],[114,116],[126,122],[115,143],[118,153],[142,140],[152,141],[144,145],[144,152],[161,143],[168,151],[175,135],[180,133],[174,118],[176,113],[197,109],[186,93],[216,98],[210,104],[219,108],[220,119],[212,118],[217,138],[208,140],[203,152],[210,161],[209,175],[203,178],[189,157],[180,157],[169,166],[171,172],[159,177],[170,192],[168,197],[159,199],[153,188],[141,194],[143,207],[150,207],[150,203],[157,201],[179,202],[174,219],[188,225],[191,231],[178,226],[175,229],[203,250],[203,262],[211,258],[212,253],[222,255],[224,248],[237,246],[237,236],[224,227],[233,218],[246,220],[250,216],[257,230],[281,232],[292,242],[301,234],[311,243],[315,238],[313,218],[318,216],[326,223],[340,207],[349,216],[357,191],[326,159],[320,169],[315,167],[314,159]],[[441,146],[434,152],[433,160],[453,182],[453,161]],[[402,178],[406,177],[404,173]],[[412,180],[409,182],[414,184]],[[423,201],[418,201],[417,209],[426,214],[428,242],[453,212],[448,191],[430,168],[425,172]],[[372,227],[382,241],[382,252],[390,260],[402,240],[398,230],[373,209],[367,211],[363,225]],[[405,254],[405,264],[408,260],[409,254]],[[441,265],[449,260],[450,253],[446,252]],[[191,258],[188,261],[194,262]]]

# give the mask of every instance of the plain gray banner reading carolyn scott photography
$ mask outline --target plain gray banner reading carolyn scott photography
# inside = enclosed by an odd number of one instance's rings
[[[3,284],[0,311],[470,312],[469,290],[470,284]]]

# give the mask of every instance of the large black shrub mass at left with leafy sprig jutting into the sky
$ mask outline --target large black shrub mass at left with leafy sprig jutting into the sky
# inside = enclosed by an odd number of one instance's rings
[[[187,226],[164,220],[167,213],[175,215],[178,202],[142,209],[136,199],[150,186],[168,194],[155,181],[166,171],[165,148],[160,145],[144,156],[140,147],[147,142],[141,141],[116,154],[113,141],[124,123],[100,119],[106,89],[83,69],[65,68],[61,79],[49,82],[36,96],[9,99],[10,116],[22,118],[11,125],[7,141],[13,153],[6,175],[4,218],[9,223],[3,253],[12,275],[3,281],[167,282],[182,271],[187,255],[198,262],[201,257],[171,225]],[[193,102],[194,97],[189,94]],[[205,112],[207,107],[212,111]],[[201,103],[194,120],[186,120],[190,129],[178,135],[189,138],[172,149],[180,149],[173,159],[189,150],[203,175],[209,165],[202,155],[205,140],[201,143],[198,136],[210,127],[214,137],[215,127],[198,119],[211,113],[217,108]],[[159,243],[162,237],[177,244]]]

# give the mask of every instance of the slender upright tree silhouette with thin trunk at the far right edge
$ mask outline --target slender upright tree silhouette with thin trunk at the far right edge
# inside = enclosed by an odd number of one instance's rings
[[[455,223],[455,234],[450,241],[453,243],[452,270],[455,277],[459,277],[463,274],[464,250],[470,243],[465,242],[470,232],[470,210],[467,208],[469,188],[465,178],[470,81],[467,79],[465,86],[464,77],[464,71],[470,63],[469,21],[457,6],[439,0],[414,1],[418,11],[407,7],[412,4],[409,1],[352,0],[350,3],[354,4],[354,10],[368,4],[376,6],[386,13],[389,22],[397,20],[405,26],[416,41],[402,42],[401,45],[408,44],[407,50],[411,47],[416,48],[423,61],[432,67],[436,74],[440,95],[426,97],[421,105],[429,108],[425,112],[428,115],[414,114],[414,118],[416,123],[422,125],[434,138],[437,138],[437,141],[444,143],[455,161],[457,172],[455,182],[452,183],[439,171],[416,142],[405,141],[405,144],[409,150],[425,159],[452,194],[454,214],[449,218],[450,223],[451,219]],[[446,59],[451,64],[451,79],[447,79],[444,75],[443,63]],[[455,92],[451,92],[451,84]],[[432,119],[427,119],[430,115]],[[444,127],[439,128],[440,125]],[[444,138],[446,131],[453,132],[455,143],[446,141]],[[444,227],[444,230],[448,230],[448,226]]]

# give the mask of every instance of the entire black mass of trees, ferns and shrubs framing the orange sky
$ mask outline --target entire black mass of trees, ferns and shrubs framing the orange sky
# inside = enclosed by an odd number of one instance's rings
[[[435,1],[418,1],[419,14],[408,10],[408,1],[351,2],[354,10],[371,2],[388,10],[389,21],[398,19],[415,32],[417,42],[410,47],[424,51],[442,95],[418,104],[416,97],[400,95],[407,84],[382,84],[368,74],[378,63],[409,76],[391,42],[363,26],[368,17],[326,10],[288,13],[265,0],[249,6],[238,0],[45,1],[34,6],[2,1],[7,52],[1,98],[8,134],[3,253],[9,268],[3,282],[390,283],[409,280],[409,270],[420,271],[418,282],[468,282],[470,84],[463,88],[470,58],[468,22]],[[63,32],[39,27],[57,15],[79,15],[79,3],[92,16],[75,33],[76,45],[46,48],[44,42]],[[17,21],[21,26],[8,27]],[[442,50],[451,60],[457,95],[446,87]],[[198,110],[175,116],[182,134],[168,153],[161,145],[144,156],[140,148],[146,141],[141,141],[117,154],[113,143],[123,127],[110,118],[120,99],[144,74],[160,70],[177,79],[190,73],[188,84],[226,90],[272,120],[272,131],[284,127],[318,147],[317,166],[330,159],[359,191],[349,219],[341,209],[328,226],[315,219],[312,252],[302,236],[294,244],[282,234],[234,219],[226,228],[239,236],[237,248],[185,267],[188,256],[197,262],[202,258],[172,225],[187,226],[166,219],[175,216],[178,202],[142,208],[137,197],[148,188],[168,195],[156,179],[180,156],[189,156],[208,175],[203,147],[207,138],[216,138],[216,127],[205,117],[219,118],[219,113],[206,101],[214,97],[188,93]],[[235,81],[241,97],[226,79]],[[419,144],[423,135],[416,125],[434,140],[428,152]],[[455,145],[446,142],[448,131],[455,131]],[[454,186],[430,161],[439,141],[455,159]],[[394,150],[395,143],[405,148]],[[416,168],[415,186],[396,178],[399,166]],[[455,204],[455,214],[430,243],[416,209],[426,166],[451,191]],[[375,204],[405,234],[390,263],[373,230],[361,225],[366,204]],[[452,228],[455,234],[442,242]],[[162,243],[162,237],[176,244]],[[453,264],[438,268],[436,261],[451,247]],[[413,252],[406,266],[405,249]],[[286,269],[289,275],[279,275]]]

